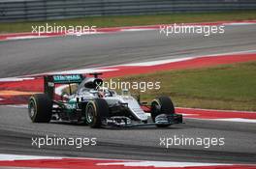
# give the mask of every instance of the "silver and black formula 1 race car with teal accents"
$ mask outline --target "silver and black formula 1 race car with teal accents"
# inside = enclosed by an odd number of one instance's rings
[[[182,115],[175,113],[175,107],[169,97],[152,100],[150,105],[135,99],[128,90],[121,95],[102,87],[102,73],[46,75],[44,76],[44,94],[31,96],[28,102],[28,114],[33,123],[50,121],[85,123],[90,127],[169,127],[182,123]],[[56,85],[66,84],[69,95],[55,94]],[[72,94],[72,85],[77,84]],[[59,99],[56,99],[59,98]],[[151,115],[151,121],[147,114]]]

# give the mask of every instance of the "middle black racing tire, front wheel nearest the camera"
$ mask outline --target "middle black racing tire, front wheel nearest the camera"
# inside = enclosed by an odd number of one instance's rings
[[[85,123],[90,127],[101,127],[102,119],[110,116],[109,104],[105,99],[90,100],[85,108]]]

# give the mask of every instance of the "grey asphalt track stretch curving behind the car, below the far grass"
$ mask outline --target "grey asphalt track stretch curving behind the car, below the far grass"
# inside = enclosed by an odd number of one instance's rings
[[[255,50],[256,25],[226,26],[224,34],[176,34],[158,30],[0,42],[0,78]]]

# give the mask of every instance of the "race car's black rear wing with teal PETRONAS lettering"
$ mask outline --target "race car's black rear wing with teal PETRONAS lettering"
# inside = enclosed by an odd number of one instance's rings
[[[78,83],[85,78],[83,74],[54,74],[44,76],[44,92],[49,99],[53,99],[55,84],[72,84]],[[70,87],[71,88],[71,87]]]

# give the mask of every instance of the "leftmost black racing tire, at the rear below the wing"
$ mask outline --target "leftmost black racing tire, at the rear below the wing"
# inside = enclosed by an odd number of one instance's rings
[[[28,101],[28,116],[33,123],[48,123],[52,115],[52,101],[46,94],[35,94]]]

